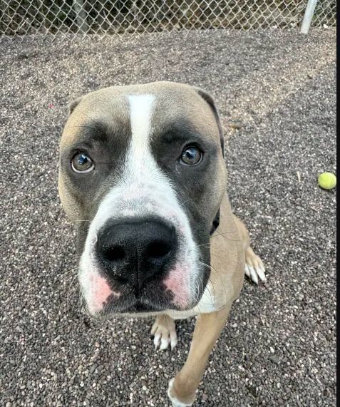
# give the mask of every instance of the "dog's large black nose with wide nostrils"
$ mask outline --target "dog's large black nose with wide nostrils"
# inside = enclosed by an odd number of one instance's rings
[[[143,284],[170,267],[177,239],[173,227],[156,220],[111,222],[98,233],[97,255],[120,283]]]

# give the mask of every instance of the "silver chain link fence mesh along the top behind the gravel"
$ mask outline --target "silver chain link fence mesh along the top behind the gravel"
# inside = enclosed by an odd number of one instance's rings
[[[0,0],[0,37],[120,34],[190,29],[287,29],[301,0]],[[336,0],[321,0],[312,26],[336,24]]]

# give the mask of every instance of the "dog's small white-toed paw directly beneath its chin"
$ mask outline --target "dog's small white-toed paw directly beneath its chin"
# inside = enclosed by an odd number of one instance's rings
[[[154,336],[153,343],[155,349],[164,351],[170,346],[171,350],[177,345],[177,333],[175,321],[167,315],[157,316],[155,324],[151,329],[151,335]]]

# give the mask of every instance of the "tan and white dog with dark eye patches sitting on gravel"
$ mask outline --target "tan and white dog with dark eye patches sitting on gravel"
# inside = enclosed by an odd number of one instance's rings
[[[61,136],[58,189],[93,316],[155,316],[156,349],[176,346],[175,319],[197,316],[168,387],[172,406],[192,406],[244,274],[266,280],[230,207],[214,99],[171,82],[79,98]]]

